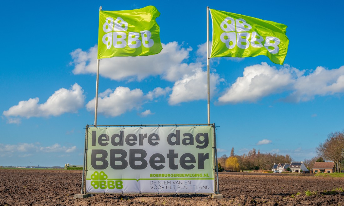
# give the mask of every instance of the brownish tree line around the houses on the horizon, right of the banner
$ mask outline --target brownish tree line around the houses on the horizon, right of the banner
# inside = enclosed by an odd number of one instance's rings
[[[312,159],[304,159],[303,163],[311,170],[316,161],[333,161],[335,171],[340,172],[344,166],[344,131],[334,132],[328,135],[325,142],[320,143],[316,148],[318,156]],[[295,162],[289,155],[279,155],[277,153],[260,153],[255,148],[243,155],[235,155],[234,147],[230,151],[230,156],[223,155],[217,158],[219,171],[232,170],[271,170],[273,163]]]

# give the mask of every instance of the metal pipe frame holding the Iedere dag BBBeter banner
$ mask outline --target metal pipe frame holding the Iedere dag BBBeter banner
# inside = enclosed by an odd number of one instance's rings
[[[81,193],[82,194],[105,194],[105,193],[87,193],[86,192],[86,176],[87,176],[87,170],[86,170],[86,165],[87,165],[87,152],[88,152],[88,128],[90,127],[178,127],[178,126],[212,126],[213,128],[213,175],[214,178],[216,176],[216,179],[214,180],[214,193],[106,193],[106,194],[219,194],[219,183],[218,183],[218,166],[217,166],[217,151],[216,151],[216,138],[215,138],[215,123],[213,124],[149,124],[149,125],[86,125],[86,133],[85,133],[85,151],[84,151],[84,165],[83,165],[83,175],[82,175],[82,188],[81,188]],[[216,172],[216,173],[215,173]]]

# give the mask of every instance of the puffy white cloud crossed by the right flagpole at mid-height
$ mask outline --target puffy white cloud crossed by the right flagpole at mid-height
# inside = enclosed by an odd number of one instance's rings
[[[216,73],[210,74],[210,93],[214,95],[216,85],[223,81]],[[195,69],[192,75],[185,75],[176,81],[170,94],[169,104],[207,99],[207,72],[201,68]]]

